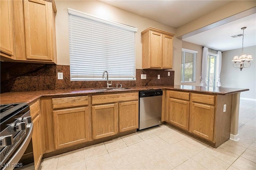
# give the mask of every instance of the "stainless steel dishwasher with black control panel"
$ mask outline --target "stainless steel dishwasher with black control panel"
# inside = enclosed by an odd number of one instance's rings
[[[162,95],[162,90],[139,92],[139,130],[162,124]]]

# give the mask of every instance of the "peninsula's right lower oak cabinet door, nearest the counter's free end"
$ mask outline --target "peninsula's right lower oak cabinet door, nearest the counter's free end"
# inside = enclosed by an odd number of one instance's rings
[[[214,107],[204,104],[191,104],[191,132],[213,141]]]

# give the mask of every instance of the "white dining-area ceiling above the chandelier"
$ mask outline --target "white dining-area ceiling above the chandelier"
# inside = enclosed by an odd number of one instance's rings
[[[244,47],[256,45],[256,14],[240,18],[183,40],[220,51],[238,49],[242,48],[242,36],[236,38],[231,36],[243,34],[241,28],[244,26],[247,27],[244,30]]]

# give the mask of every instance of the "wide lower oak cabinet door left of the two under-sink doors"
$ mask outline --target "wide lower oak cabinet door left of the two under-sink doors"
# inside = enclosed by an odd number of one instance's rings
[[[55,148],[89,141],[88,107],[53,111]]]

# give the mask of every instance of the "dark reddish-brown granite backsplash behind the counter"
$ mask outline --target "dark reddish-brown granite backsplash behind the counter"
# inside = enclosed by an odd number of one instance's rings
[[[70,81],[69,65],[1,62],[1,93],[54,89],[83,89],[106,87],[106,81]],[[63,80],[57,73],[63,73]],[[174,71],[136,69],[135,81],[113,81],[112,86],[174,85]],[[146,74],[147,79],[140,79]],[[157,79],[160,75],[160,79]]]

